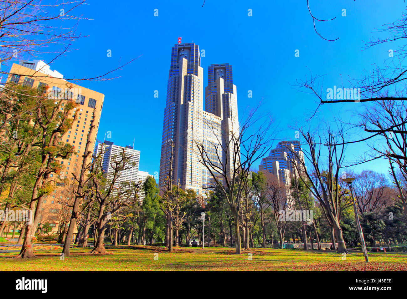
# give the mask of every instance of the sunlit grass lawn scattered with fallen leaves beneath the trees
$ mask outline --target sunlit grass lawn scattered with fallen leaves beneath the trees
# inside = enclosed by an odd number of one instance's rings
[[[342,255],[332,251],[251,249],[241,255],[233,248],[109,247],[109,255],[90,255],[89,248],[71,249],[71,256],[60,260],[60,249],[38,251],[37,259],[17,260],[17,253],[0,253],[0,271],[407,271],[406,253],[369,253],[370,262],[360,251]],[[250,254],[251,258],[250,260]],[[155,258],[155,259],[154,259]],[[158,258],[158,259],[157,259]]]

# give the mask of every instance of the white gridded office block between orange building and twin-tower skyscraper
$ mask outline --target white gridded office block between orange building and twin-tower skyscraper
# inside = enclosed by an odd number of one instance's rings
[[[115,162],[120,162],[123,154],[128,158],[124,164],[126,169],[118,172],[119,177],[114,184],[112,196],[117,196],[118,190],[123,192],[125,189],[128,189],[129,187],[127,186],[131,186],[131,182],[138,183],[140,151],[133,149],[133,146],[118,146],[107,140],[105,140],[104,143],[99,143],[95,148],[94,156],[98,158],[100,157],[101,167],[103,169],[103,173],[105,173],[107,177],[108,183],[113,180],[114,167],[116,166]],[[125,187],[126,184],[127,186]],[[134,193],[131,193],[129,198],[133,196]]]

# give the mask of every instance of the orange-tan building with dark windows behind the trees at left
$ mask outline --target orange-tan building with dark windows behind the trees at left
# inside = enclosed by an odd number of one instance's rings
[[[74,146],[75,153],[67,157],[67,159],[59,159],[64,166],[63,171],[58,174],[50,175],[51,177],[58,175],[74,183],[72,172],[78,174],[81,171],[83,154],[92,118],[95,119],[95,127],[90,135],[90,151],[94,149],[105,96],[100,92],[95,92],[66,81],[63,79],[61,73],[56,70],[50,70],[49,65],[41,60],[20,61],[20,64],[14,63],[11,66],[10,73],[13,75],[9,76],[8,81],[30,87],[48,85],[48,97],[75,100],[78,104],[70,113],[71,118],[77,115],[77,119],[72,123],[72,127],[68,132],[61,138],[62,142]],[[92,157],[88,157],[87,162],[90,162],[91,159]],[[43,205],[44,216],[42,223],[48,222],[50,227],[53,228],[53,233],[61,229],[57,215],[61,214],[63,210],[61,201],[68,200],[68,195],[66,194],[69,189],[72,189],[71,185],[65,186],[65,183],[61,182],[58,182],[57,186],[59,186],[59,188],[55,189],[52,195],[47,196]],[[74,233],[76,233],[76,230]]]

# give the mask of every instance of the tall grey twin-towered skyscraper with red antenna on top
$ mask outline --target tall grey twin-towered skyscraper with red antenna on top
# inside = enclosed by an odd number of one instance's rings
[[[201,164],[198,145],[208,158],[230,172],[233,151],[227,149],[230,133],[239,132],[236,85],[232,65],[212,64],[208,67],[205,87],[199,46],[176,44],[171,50],[164,124],[162,129],[159,187],[164,187],[173,148],[173,183],[184,190],[193,189],[202,195],[213,186],[208,169]],[[198,145],[197,145],[198,144]],[[232,163],[230,163],[232,162]],[[233,167],[233,166],[232,166]]]

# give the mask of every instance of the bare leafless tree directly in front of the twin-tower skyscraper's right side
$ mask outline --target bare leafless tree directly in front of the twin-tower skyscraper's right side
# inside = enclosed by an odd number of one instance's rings
[[[214,136],[211,148],[203,140],[195,139],[198,158],[213,178],[213,188],[218,188],[226,198],[234,216],[236,253],[241,253],[240,221],[241,204],[248,183],[252,164],[271,148],[272,120],[268,114],[260,114],[260,106],[249,111],[240,123],[233,121],[231,129],[220,132],[208,124]],[[214,149],[214,150],[213,150]],[[232,157],[229,161],[226,157]]]

